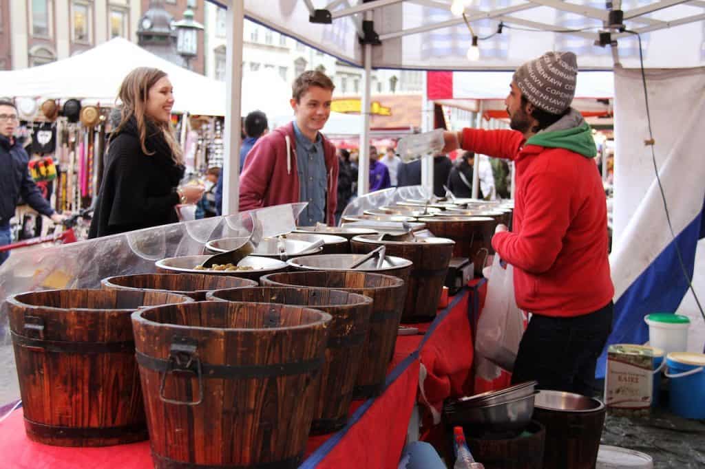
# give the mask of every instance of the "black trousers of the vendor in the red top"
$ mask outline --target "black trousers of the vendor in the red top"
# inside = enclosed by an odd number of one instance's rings
[[[513,383],[537,380],[541,389],[594,392],[595,365],[612,332],[614,304],[575,318],[532,315],[512,375]]]

